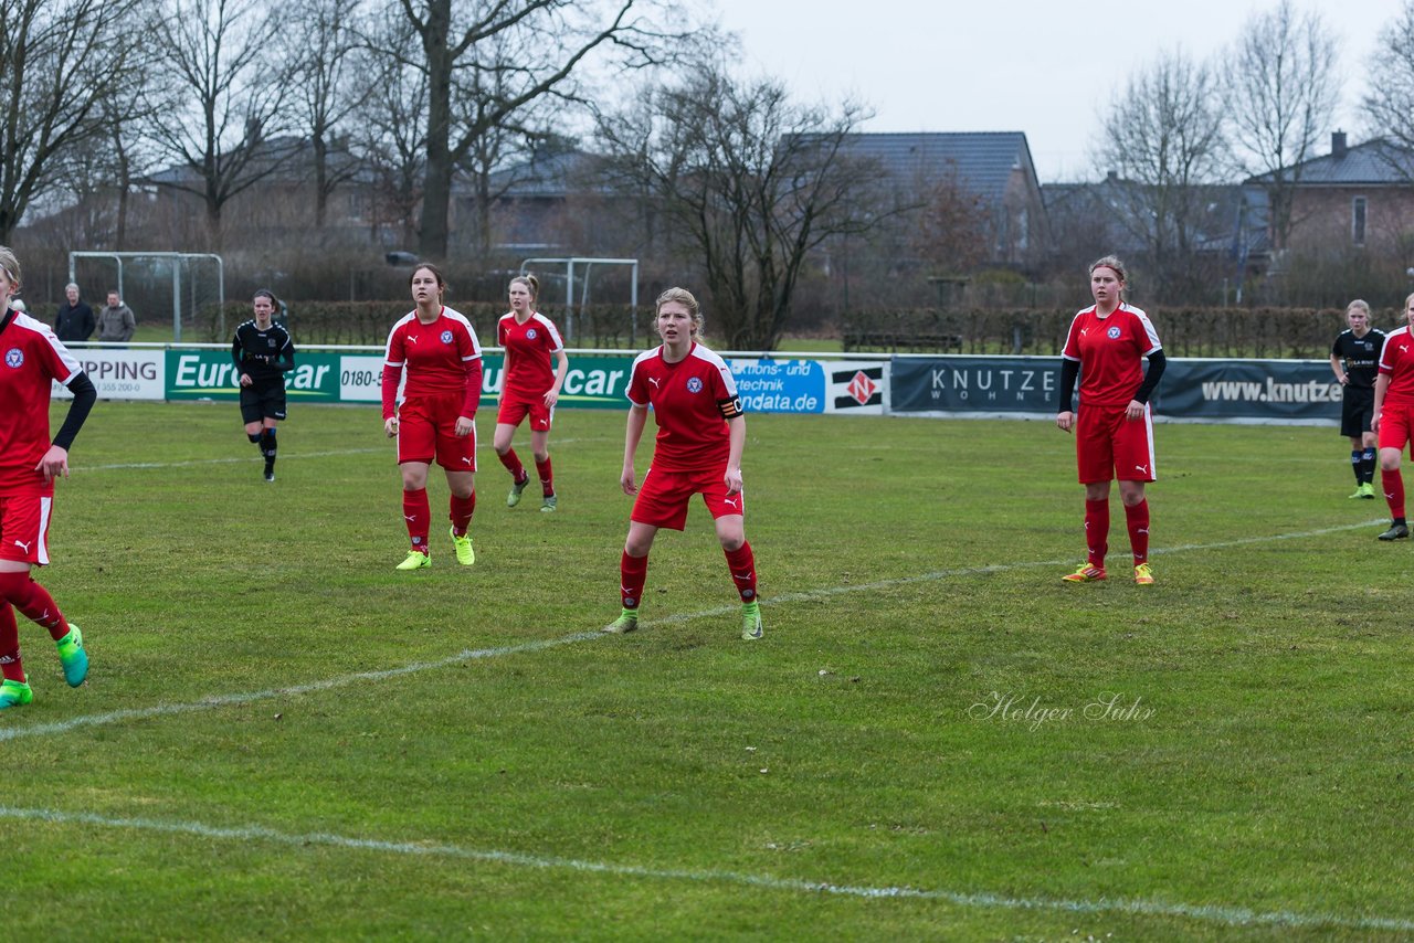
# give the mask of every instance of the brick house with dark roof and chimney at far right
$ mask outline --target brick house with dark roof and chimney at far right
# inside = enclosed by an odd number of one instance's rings
[[[1393,253],[1414,233],[1414,153],[1381,139],[1349,146],[1331,134],[1331,153],[1282,170],[1295,180],[1288,249],[1301,256]],[[1254,216],[1266,218],[1274,174],[1243,181]]]

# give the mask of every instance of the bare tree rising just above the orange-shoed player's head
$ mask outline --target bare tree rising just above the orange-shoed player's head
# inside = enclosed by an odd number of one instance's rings
[[[1159,298],[1198,279],[1203,185],[1219,178],[1225,147],[1215,86],[1206,65],[1165,52],[1130,78],[1104,117],[1100,165],[1130,184],[1116,188],[1116,199],[1147,249]]]

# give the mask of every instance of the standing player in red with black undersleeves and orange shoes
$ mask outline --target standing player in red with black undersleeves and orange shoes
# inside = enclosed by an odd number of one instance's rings
[[[1124,264],[1106,256],[1090,264],[1094,305],[1070,322],[1060,362],[1060,410],[1056,426],[1075,430],[1076,464],[1085,485],[1085,536],[1089,558],[1062,577],[1066,582],[1104,578],[1110,541],[1110,481],[1120,500],[1134,550],[1134,582],[1150,585],[1148,502],[1144,485],[1155,479],[1154,417],[1150,396],[1164,375],[1164,349],[1148,315],[1123,298]],[[1141,366],[1148,359],[1148,370]],[[1070,409],[1076,377],[1080,409]]]

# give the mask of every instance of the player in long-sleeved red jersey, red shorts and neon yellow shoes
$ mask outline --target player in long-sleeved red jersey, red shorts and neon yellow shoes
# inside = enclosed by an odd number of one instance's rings
[[[427,533],[431,506],[427,472],[433,459],[451,489],[451,541],[457,563],[477,561],[471,515],[477,510],[477,407],[481,404],[481,345],[462,314],[443,304],[447,280],[420,263],[409,284],[414,308],[393,325],[383,362],[383,431],[397,437],[403,472],[403,519],[413,543],[399,570],[431,566]],[[396,404],[399,383],[403,400]]]

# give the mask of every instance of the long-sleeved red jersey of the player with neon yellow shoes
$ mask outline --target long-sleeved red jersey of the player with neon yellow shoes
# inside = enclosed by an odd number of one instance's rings
[[[437,320],[423,324],[409,311],[387,335],[383,361],[383,418],[393,416],[397,383],[403,399],[434,393],[465,393],[462,416],[481,404],[481,344],[471,321],[443,307]]]

